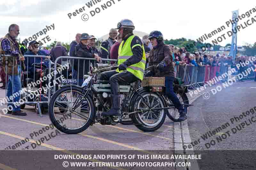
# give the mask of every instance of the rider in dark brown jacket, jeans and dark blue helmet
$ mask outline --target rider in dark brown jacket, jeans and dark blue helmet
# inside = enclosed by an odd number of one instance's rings
[[[150,40],[153,49],[149,53],[149,64],[148,66],[157,65],[156,69],[149,71],[146,77],[165,77],[166,95],[169,100],[172,101],[174,106],[179,110],[180,117],[178,121],[184,121],[187,119],[184,108],[182,107],[180,100],[173,91],[173,81],[175,77],[172,51],[171,48],[164,44],[164,37],[160,31],[152,31],[149,34],[148,39]]]

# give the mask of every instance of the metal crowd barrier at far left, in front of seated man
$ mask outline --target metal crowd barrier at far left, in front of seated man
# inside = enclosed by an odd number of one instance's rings
[[[11,55],[0,55],[1,58],[3,58],[3,56],[9,56],[9,57],[12,57]],[[40,78],[42,78],[41,80],[38,80],[36,79],[36,64],[34,64],[34,66],[30,66],[30,68],[32,67],[32,70],[34,70],[34,74],[31,75],[31,73],[28,71],[28,60],[31,61],[31,58],[34,57],[34,62],[33,63],[36,63],[36,58],[41,58],[41,62],[43,62],[43,58],[45,58],[47,61],[45,61],[44,59],[44,62],[48,62],[48,69],[45,69],[48,70],[48,73],[51,73],[51,60],[49,57],[47,56],[44,56],[44,55],[23,55],[25,57],[25,61],[24,61],[24,65],[25,65],[25,70],[22,70],[21,69],[21,64],[18,65],[18,67],[20,68],[20,70],[18,69],[19,71],[19,78],[20,78],[20,87],[21,87],[21,91],[19,90],[19,92],[15,92],[14,93],[14,83],[13,83],[13,80],[14,80],[14,76],[12,76],[12,82],[11,80],[9,79],[8,81],[12,84],[12,95],[10,95],[9,97],[7,96],[7,91],[8,91],[8,82],[7,82],[7,74],[6,74],[6,70],[7,70],[7,64],[5,64],[5,70],[4,71],[4,74],[5,74],[5,101],[2,100],[0,101],[0,105],[3,105],[3,104],[12,104],[12,106],[15,105],[15,107],[17,105],[20,105],[20,103],[18,104],[17,102],[13,102],[13,98],[14,97],[19,97],[19,101],[21,101],[21,97],[22,97],[22,105],[25,107],[26,104],[33,104],[33,105],[37,105],[37,108],[38,108],[38,112],[39,112],[39,115],[42,117],[42,113],[41,113],[41,109],[40,109],[40,104],[43,104],[43,103],[46,103],[48,104],[49,101],[50,101],[50,90],[48,89],[48,101],[41,101],[41,92],[38,92],[37,90],[39,89],[39,84],[40,84],[40,88],[42,88],[42,81],[44,81],[44,78],[42,76],[42,71],[40,71]],[[32,59],[33,61],[33,59]],[[37,68],[37,69],[40,69],[42,70],[42,63],[39,63],[41,64],[41,67],[40,68]],[[14,58],[13,58],[13,63],[14,63]],[[20,62],[21,63],[21,62]],[[45,64],[45,63],[44,63]],[[12,74],[9,74],[10,77],[11,75],[13,75],[14,73],[14,67],[12,68]],[[9,77],[9,76],[8,76]],[[50,82],[51,82],[51,77],[49,76],[49,78],[47,78],[48,80],[48,87],[50,87]],[[3,85],[4,85],[4,82],[3,82]],[[24,86],[25,85],[25,86]],[[33,85],[33,90],[30,88],[32,87]],[[9,89],[10,90],[10,89]],[[42,90],[42,89],[41,89]],[[36,96],[35,96],[36,95]],[[47,94],[45,94],[47,96]],[[32,97],[31,97],[32,96]],[[29,99],[28,99],[29,97]],[[12,98],[12,99],[11,99]],[[36,101],[36,99],[39,98],[39,101]],[[23,108],[22,108],[23,109]]]

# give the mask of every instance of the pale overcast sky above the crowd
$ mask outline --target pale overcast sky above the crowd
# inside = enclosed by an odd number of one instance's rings
[[[221,34],[231,30],[231,27],[225,25],[225,22],[232,17],[231,11],[239,9],[240,15],[256,6],[251,0],[120,0],[119,2],[111,0],[112,6],[102,10],[101,5],[108,0],[101,0],[91,8],[86,6],[87,2],[88,0],[1,0],[0,37],[8,32],[9,25],[13,23],[20,26],[18,38],[21,40],[54,23],[55,29],[48,31],[46,35],[41,35],[37,40],[49,35],[52,41],[56,39],[71,42],[75,39],[76,33],[89,33],[97,38],[101,37],[107,34],[110,28],[116,28],[121,19],[129,18],[133,21],[136,30],[145,33],[159,30],[163,33],[164,39],[168,40],[181,37],[196,40],[204,33],[211,33],[224,25],[226,30],[206,41],[211,43]],[[79,12],[76,16],[72,15],[71,19],[68,18],[68,13],[73,13],[82,7],[85,11]],[[101,11],[92,17],[90,11],[97,7]],[[87,21],[81,19],[84,13],[89,15]],[[256,12],[251,17],[253,16],[256,16]],[[238,24],[250,18],[246,17]],[[256,42],[255,28],[256,23],[238,32],[237,45]],[[225,46],[227,43],[231,43],[231,37],[227,37],[227,40],[222,41],[220,45]]]

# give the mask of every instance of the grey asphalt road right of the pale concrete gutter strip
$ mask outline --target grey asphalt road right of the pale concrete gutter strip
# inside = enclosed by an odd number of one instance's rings
[[[200,169],[256,169],[256,82],[220,87],[216,94],[209,92],[209,99],[200,97],[189,108],[191,141],[195,152],[205,156],[198,161]]]

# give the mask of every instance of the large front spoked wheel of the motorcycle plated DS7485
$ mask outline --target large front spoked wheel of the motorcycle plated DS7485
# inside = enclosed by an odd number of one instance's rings
[[[50,120],[63,133],[80,133],[90,126],[95,117],[92,98],[88,95],[84,99],[82,92],[78,87],[64,87],[50,100]]]

